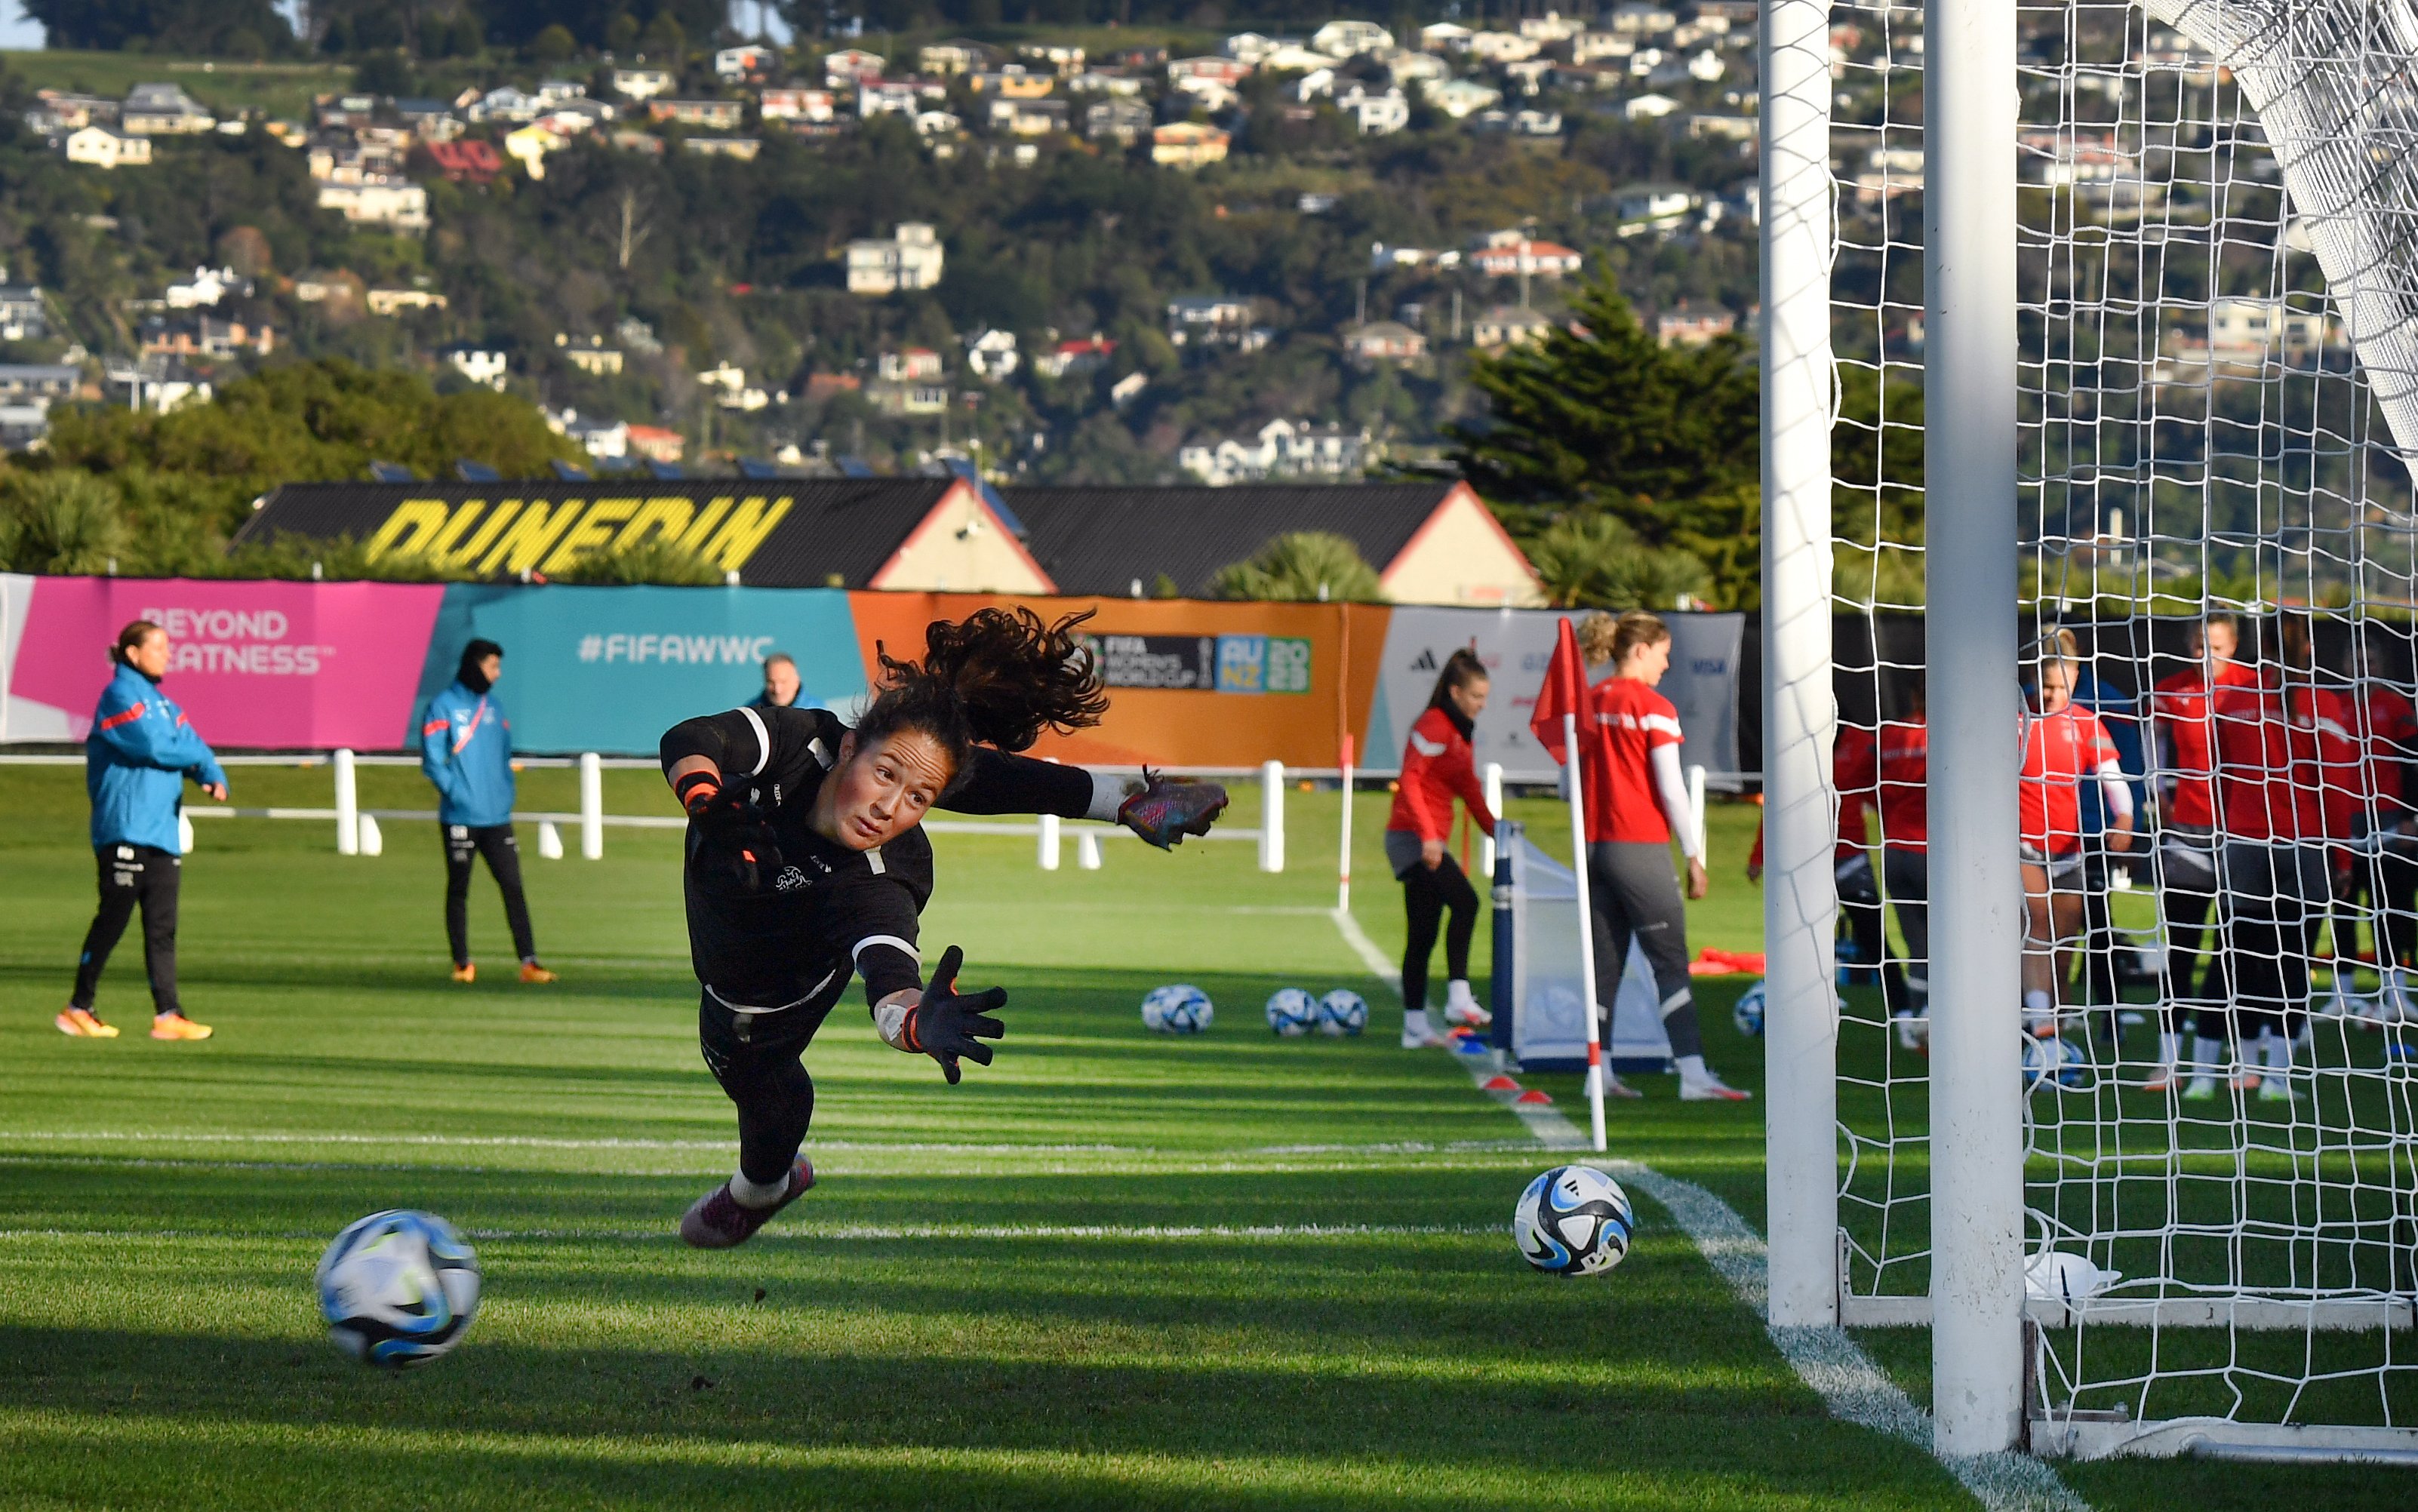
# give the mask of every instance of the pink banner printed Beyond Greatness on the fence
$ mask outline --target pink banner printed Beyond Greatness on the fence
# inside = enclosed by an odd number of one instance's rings
[[[82,740],[118,627],[152,619],[174,644],[167,694],[203,740],[384,750],[411,719],[442,602],[440,583],[39,578],[10,704],[56,709]]]

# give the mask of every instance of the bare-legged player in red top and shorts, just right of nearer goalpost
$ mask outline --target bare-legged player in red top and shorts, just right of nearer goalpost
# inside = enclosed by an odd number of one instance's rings
[[[2034,709],[2024,716],[2021,815],[2024,871],[2024,1028],[2058,1033],[2058,992],[2072,977],[2082,929],[2082,779],[2099,781],[2108,849],[2133,847],[2133,789],[2116,743],[2089,709],[2075,704],[2075,636],[2055,631],[2038,646]]]

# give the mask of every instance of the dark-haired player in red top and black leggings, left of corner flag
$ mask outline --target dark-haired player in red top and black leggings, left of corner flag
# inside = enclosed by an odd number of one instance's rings
[[[1446,1023],[1480,1026],[1494,1016],[1470,994],[1470,934],[1477,929],[1477,890],[1460,864],[1444,849],[1453,832],[1458,796],[1477,827],[1494,832],[1487,791],[1477,781],[1470,755],[1470,731],[1487,706],[1487,668],[1475,651],[1453,651],[1436,675],[1436,692],[1410,726],[1402,745],[1402,781],[1386,820],[1386,861],[1402,883],[1402,912],[1410,931],[1402,941],[1402,1048],[1441,1045],[1427,1023],[1427,958],[1436,951],[1436,924],[1451,912],[1444,931]]]

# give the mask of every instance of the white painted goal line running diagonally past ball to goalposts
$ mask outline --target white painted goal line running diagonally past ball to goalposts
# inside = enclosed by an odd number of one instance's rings
[[[1376,948],[1376,941],[1369,939],[1369,931],[1359,927],[1359,919],[1344,910],[1335,910],[1332,917],[1344,943],[1359,953],[1373,975],[1400,994],[1400,977],[1383,951]],[[1480,1086],[1489,1077],[1487,1067],[1463,1062],[1463,1069]],[[1586,1149],[1586,1135],[1557,1108],[1511,1103],[1511,1093],[1487,1096],[1494,1096],[1504,1108],[1516,1113],[1545,1149]],[[1693,1181],[1664,1176],[1642,1161],[1603,1164],[1615,1178],[1637,1183],[1639,1190],[1664,1205],[1695,1243],[1697,1253],[1729,1282],[1729,1289],[1748,1311],[1763,1318],[1770,1316],[1770,1251],[1763,1246],[1763,1236],[1739,1217],[1736,1207]],[[1763,1331],[1770,1335],[1772,1347],[1780,1350],[1780,1357],[1789,1362],[1789,1369],[1797,1372],[1797,1379],[1823,1398],[1833,1418],[1886,1432],[1937,1456],[1988,1512],[2089,1512],[2089,1502],[2077,1497],[2058,1478],[2058,1471],[2029,1454],[1978,1454],[1971,1459],[1939,1454],[1932,1442],[1932,1415],[1917,1408],[1845,1328],[1775,1328],[1765,1321]]]

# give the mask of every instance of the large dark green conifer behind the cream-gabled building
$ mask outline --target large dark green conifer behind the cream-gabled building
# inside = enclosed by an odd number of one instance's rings
[[[1760,382],[1746,346],[1659,346],[1610,278],[1572,298],[1579,329],[1477,358],[1489,421],[1453,426],[1453,460],[1521,525],[1572,508],[1618,515],[1647,544],[1695,523],[1693,501],[1760,474]]]

